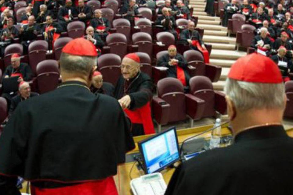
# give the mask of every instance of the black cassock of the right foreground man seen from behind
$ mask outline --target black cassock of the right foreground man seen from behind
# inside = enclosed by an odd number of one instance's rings
[[[179,165],[165,195],[293,194],[292,153],[283,126],[249,129]]]

